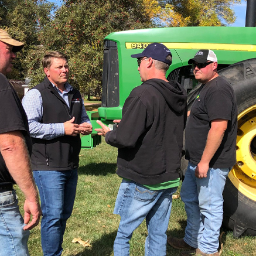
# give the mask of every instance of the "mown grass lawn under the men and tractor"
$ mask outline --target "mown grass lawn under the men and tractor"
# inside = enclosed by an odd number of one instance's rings
[[[107,256],[114,255],[112,246],[117,233],[120,217],[112,214],[118,188],[121,182],[115,174],[117,149],[103,143],[94,149],[81,149],[78,185],[73,214],[67,221],[63,241],[63,256]],[[19,192],[21,210],[24,198]],[[168,235],[183,237],[186,226],[184,204],[179,199],[173,200]],[[233,238],[231,231],[223,230],[223,256],[256,255],[256,238]],[[145,221],[131,240],[131,255],[144,255],[144,243],[147,235]],[[71,243],[73,238],[90,240],[91,247]],[[42,256],[40,245],[40,225],[35,227],[29,237],[31,256]],[[179,250],[168,245],[168,256],[178,256]],[[156,255],[157,256],[157,255]]]

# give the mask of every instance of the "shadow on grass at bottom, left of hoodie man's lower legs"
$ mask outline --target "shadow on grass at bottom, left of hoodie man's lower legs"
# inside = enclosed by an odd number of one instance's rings
[[[109,256],[113,252],[113,245],[117,232],[104,234],[99,240],[91,243],[90,248],[84,248],[84,251],[78,254],[71,254],[70,256]]]

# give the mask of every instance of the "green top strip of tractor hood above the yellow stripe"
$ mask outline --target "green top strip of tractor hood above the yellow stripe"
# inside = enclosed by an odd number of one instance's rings
[[[234,37],[235,36],[235,37]],[[255,28],[182,27],[137,29],[114,32],[105,39],[122,45],[125,42],[230,43],[256,45]]]

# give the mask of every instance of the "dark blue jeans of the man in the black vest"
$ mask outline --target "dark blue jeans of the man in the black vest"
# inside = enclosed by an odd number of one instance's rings
[[[62,254],[66,221],[71,216],[76,197],[77,169],[34,170],[42,208],[41,242],[43,255]]]

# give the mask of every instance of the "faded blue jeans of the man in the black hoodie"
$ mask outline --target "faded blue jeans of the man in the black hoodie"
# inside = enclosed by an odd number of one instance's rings
[[[145,255],[166,255],[165,232],[170,219],[172,194],[176,190],[177,187],[153,191],[131,180],[122,180],[114,209],[114,214],[121,217],[114,242],[115,256],[129,255],[132,233],[145,218],[148,228]]]

